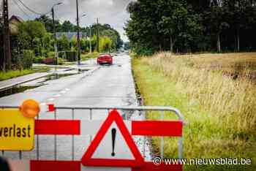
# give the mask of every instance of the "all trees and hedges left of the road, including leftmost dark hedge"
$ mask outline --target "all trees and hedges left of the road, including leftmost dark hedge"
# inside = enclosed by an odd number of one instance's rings
[[[41,59],[53,58],[55,42],[53,37],[53,21],[48,18],[48,16],[42,15],[35,20],[23,21],[22,23],[17,23],[15,27],[17,27],[17,31],[12,33],[10,37],[12,69],[22,69],[25,68],[25,66],[31,66],[31,62],[29,65],[25,64],[26,61],[28,61],[25,59],[31,58],[31,56],[37,56],[37,58]],[[97,50],[97,29],[99,29],[100,52],[116,51],[118,48],[122,47],[123,41],[118,31],[108,24],[94,23],[91,28],[80,28],[80,32],[86,34],[86,37],[80,39],[82,53]],[[3,31],[3,24],[0,22],[0,69],[4,69]],[[59,20],[57,20],[56,31],[75,32],[77,31],[77,27],[69,21],[64,21],[64,23],[61,24]],[[57,39],[57,46],[59,51],[76,51],[76,34],[71,38],[63,34]]]

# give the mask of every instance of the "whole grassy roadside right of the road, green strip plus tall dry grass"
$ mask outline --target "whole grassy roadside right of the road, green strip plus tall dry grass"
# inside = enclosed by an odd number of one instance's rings
[[[255,83],[244,77],[234,80],[223,75],[221,69],[197,67],[204,59],[197,58],[170,53],[135,58],[135,80],[145,104],[177,107],[184,114],[185,158],[252,159],[252,164],[246,166],[192,165],[185,166],[186,170],[254,170]],[[148,119],[159,119],[159,115],[148,113]],[[165,119],[173,117],[165,115]],[[153,138],[152,142],[159,151],[159,138]],[[174,157],[177,157],[177,140],[166,137],[165,158]]]

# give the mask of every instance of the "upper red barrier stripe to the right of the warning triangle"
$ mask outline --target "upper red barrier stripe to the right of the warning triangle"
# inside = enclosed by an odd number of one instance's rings
[[[132,121],[132,135],[182,136],[181,121]]]

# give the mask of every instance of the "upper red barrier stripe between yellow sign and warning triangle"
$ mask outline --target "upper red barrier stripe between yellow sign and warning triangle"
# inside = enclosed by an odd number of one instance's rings
[[[35,120],[34,134],[80,134],[78,120]]]

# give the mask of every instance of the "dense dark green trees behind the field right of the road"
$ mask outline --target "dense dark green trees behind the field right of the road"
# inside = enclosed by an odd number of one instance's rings
[[[138,0],[127,10],[137,53],[256,50],[255,0]]]

